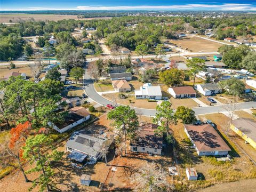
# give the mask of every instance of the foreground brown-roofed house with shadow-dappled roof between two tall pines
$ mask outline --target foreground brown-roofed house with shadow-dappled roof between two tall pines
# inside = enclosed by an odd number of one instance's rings
[[[147,123],[142,125],[138,136],[130,141],[130,150],[139,153],[161,155],[163,137],[154,132],[156,128],[156,124]]]

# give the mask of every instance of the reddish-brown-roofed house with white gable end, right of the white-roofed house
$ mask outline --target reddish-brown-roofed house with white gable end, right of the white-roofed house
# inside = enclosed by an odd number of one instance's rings
[[[195,98],[196,91],[191,86],[170,87],[168,92],[174,98]]]

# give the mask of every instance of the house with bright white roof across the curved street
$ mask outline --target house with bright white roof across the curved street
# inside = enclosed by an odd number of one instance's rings
[[[143,84],[140,90],[134,90],[136,99],[162,99],[162,91],[160,86],[152,86],[151,83]]]

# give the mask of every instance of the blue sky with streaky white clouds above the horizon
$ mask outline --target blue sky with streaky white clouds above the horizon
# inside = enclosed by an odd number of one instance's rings
[[[256,11],[256,0],[0,0],[0,10],[223,10]]]

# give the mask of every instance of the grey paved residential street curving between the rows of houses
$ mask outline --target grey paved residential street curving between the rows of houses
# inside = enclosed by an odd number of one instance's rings
[[[86,69],[86,68],[85,68]],[[87,70],[85,70],[84,74],[84,89],[86,94],[95,102],[99,103],[102,106],[106,106],[107,104],[112,104],[113,102],[101,97],[95,91],[94,86],[93,86],[93,79],[89,73],[87,73]],[[195,107],[193,110],[195,111],[196,115],[203,115],[203,114],[212,114],[212,113],[221,113],[221,112],[227,112],[227,108],[229,105],[222,105],[222,106],[209,106],[209,107]],[[145,115],[145,116],[155,116],[156,110],[155,109],[143,109],[143,108],[137,108],[137,107],[132,107],[135,109],[135,111],[140,114],[140,115]],[[243,103],[237,103],[236,109],[237,110],[243,110],[243,109],[251,109],[251,108],[256,108],[256,102],[243,102]]]

